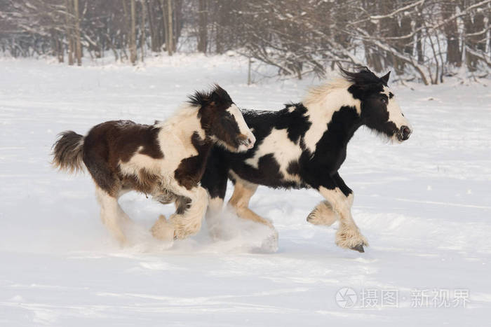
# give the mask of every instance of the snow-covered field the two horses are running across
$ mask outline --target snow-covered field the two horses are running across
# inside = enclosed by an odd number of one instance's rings
[[[0,60],[1,326],[489,323],[490,81],[394,86],[414,127],[409,141],[356,133],[341,174],[355,192],[365,253],[335,246],[336,225],[307,223],[321,200],[314,191],[264,187],[250,207],[274,221],[276,253],[258,251],[264,230],[233,216],[229,239],[212,242],[203,225],[163,249],[147,230],[173,207],[133,193],[121,199],[133,246],[121,249],[98,218],[88,174],[50,165],[58,132],[152,123],[211,83],[253,109],[280,109],[318,83],[246,78],[246,62],[229,57],[177,55],[137,68]]]

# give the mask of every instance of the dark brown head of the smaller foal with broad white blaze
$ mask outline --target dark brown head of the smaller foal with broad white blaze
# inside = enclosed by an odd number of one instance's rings
[[[253,132],[227,91],[219,85],[208,93],[196,92],[189,102],[200,107],[198,117],[207,137],[233,152],[253,148],[256,141]]]

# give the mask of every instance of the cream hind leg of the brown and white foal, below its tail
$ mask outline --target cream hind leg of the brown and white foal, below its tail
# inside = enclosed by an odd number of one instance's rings
[[[95,187],[95,193],[100,204],[100,218],[102,223],[106,225],[109,232],[111,232],[120,244],[125,244],[126,237],[120,225],[120,218],[124,218],[126,214],[119,207],[118,199],[109,195],[109,193],[98,186]]]

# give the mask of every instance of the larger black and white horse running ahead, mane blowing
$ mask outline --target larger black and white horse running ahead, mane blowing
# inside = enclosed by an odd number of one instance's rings
[[[381,78],[366,68],[341,73],[342,78],[312,88],[303,102],[287,104],[280,111],[242,111],[257,139],[255,146],[245,153],[213,148],[201,179],[210,194],[207,222],[212,234],[229,177],[234,181],[229,204],[236,214],[271,228],[267,219],[248,208],[258,185],[318,190],[325,201],[307,221],[331,225],[339,220],[336,244],[364,251],[368,242],[351,217],[353,191],[338,173],[347,144],[361,125],[398,142],[412,131],[387,86],[390,72]]]

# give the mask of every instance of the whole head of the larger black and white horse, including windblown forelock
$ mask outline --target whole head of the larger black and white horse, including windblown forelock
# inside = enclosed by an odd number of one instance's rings
[[[348,91],[361,102],[363,124],[389,139],[399,142],[409,139],[412,133],[410,123],[404,117],[394,93],[387,86],[390,71],[377,77],[365,67],[356,73],[345,71],[341,67],[339,69],[343,77],[352,83]]]

